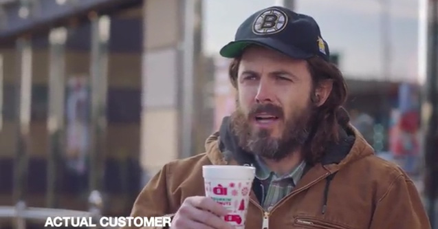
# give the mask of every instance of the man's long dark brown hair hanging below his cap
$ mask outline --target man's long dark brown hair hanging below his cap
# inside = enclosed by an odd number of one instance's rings
[[[234,58],[228,69],[231,84],[235,89],[238,89],[237,75],[240,61],[241,58]],[[331,80],[333,83],[329,97],[313,113],[311,132],[303,149],[307,163],[316,164],[320,162],[324,155],[327,144],[339,141],[339,129],[349,121],[347,111],[342,108],[347,100],[348,89],[342,73],[333,63],[316,56],[309,58],[307,64],[313,85],[311,91],[312,102],[316,102],[317,98],[314,91],[323,80]]]

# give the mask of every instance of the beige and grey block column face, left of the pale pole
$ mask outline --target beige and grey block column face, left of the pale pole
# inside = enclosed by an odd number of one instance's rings
[[[181,89],[191,87],[190,83],[182,85],[182,2],[144,1],[140,158],[149,176],[177,158],[181,150],[178,104],[183,100]],[[185,100],[191,99],[188,96]],[[190,131],[187,134],[190,136]]]

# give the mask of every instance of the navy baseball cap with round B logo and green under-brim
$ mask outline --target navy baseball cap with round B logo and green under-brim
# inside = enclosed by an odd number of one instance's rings
[[[320,56],[329,61],[329,45],[318,23],[305,14],[273,6],[252,14],[237,29],[234,41],[220,50],[223,57],[240,56],[248,45],[261,45],[298,59]]]

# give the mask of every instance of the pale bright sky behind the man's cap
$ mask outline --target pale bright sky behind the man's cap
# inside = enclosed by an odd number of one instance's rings
[[[382,0],[296,0],[296,12],[314,17],[330,51],[340,54],[340,69],[351,78],[379,78],[390,66],[391,80],[415,80],[418,75],[419,3],[388,0],[391,62],[382,61]],[[204,0],[204,51],[219,55],[234,39],[239,25],[275,0]]]

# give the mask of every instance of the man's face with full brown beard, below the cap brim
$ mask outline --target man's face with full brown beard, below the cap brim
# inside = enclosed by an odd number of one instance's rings
[[[312,113],[306,61],[249,47],[241,58],[237,87],[232,124],[244,149],[281,160],[304,144]]]

